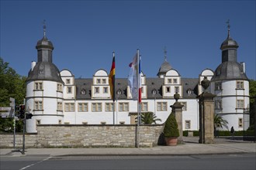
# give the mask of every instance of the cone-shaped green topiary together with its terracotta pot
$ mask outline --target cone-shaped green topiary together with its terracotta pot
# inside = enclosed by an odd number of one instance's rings
[[[164,123],[164,138],[166,145],[176,146],[179,137],[178,124],[175,118],[175,114],[171,112],[169,117]]]

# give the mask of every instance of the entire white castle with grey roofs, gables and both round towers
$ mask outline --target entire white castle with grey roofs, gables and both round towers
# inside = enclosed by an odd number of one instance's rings
[[[202,70],[198,78],[183,78],[167,61],[165,52],[157,77],[141,76],[141,113],[153,112],[164,123],[175,103],[182,102],[183,130],[199,130],[201,81],[211,80],[209,90],[216,94],[215,112],[239,130],[249,127],[249,83],[244,63],[237,63],[237,42],[230,29],[222,43],[222,63],[213,70]],[[32,63],[26,80],[26,109],[33,114],[26,120],[26,131],[36,132],[37,124],[135,124],[137,101],[133,100],[127,78],[116,78],[116,101],[110,96],[109,74],[97,70],[92,78],[74,78],[70,70],[57,69],[52,63],[54,46],[46,37],[36,44],[37,62]],[[227,130],[227,129],[223,129]]]

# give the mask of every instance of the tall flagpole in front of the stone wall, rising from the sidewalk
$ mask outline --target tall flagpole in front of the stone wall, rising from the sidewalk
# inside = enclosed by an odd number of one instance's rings
[[[140,148],[140,102],[139,102],[139,62],[140,62],[140,51],[137,49],[137,148]]]

